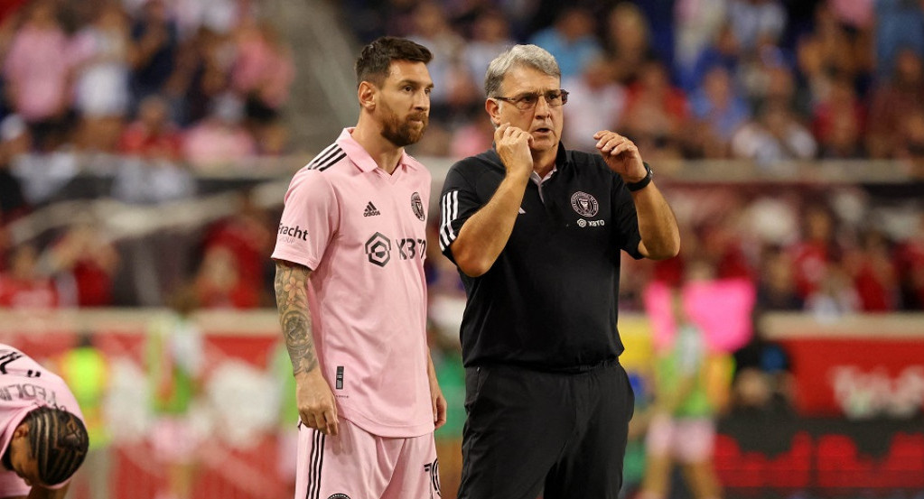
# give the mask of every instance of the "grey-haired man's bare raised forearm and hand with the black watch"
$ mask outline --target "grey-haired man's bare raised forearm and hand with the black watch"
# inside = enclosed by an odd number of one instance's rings
[[[626,183],[636,183],[645,178],[648,170],[641,160],[636,145],[626,137],[601,130],[593,136],[597,149],[610,170],[623,177]],[[680,229],[674,211],[658,190],[654,181],[632,193],[638,216],[638,253],[652,260],[673,258],[680,252]]]

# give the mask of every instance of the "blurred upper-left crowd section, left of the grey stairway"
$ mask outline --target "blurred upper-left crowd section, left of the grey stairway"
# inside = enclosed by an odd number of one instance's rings
[[[260,4],[5,0],[4,138],[201,169],[285,152],[295,69]]]

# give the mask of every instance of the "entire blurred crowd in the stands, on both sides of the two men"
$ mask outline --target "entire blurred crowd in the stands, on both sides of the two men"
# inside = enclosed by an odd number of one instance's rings
[[[280,110],[293,55],[261,20],[259,2],[3,5],[0,306],[112,304],[126,269],[119,243],[92,220],[45,244],[9,242],[10,220],[42,198],[11,172],[14,164],[29,167],[30,151],[47,153],[36,168],[49,174],[66,169],[54,156],[64,147],[163,165],[149,169],[159,180],[141,175],[124,189],[123,198],[146,202],[158,200],[142,198],[158,183],[189,196],[176,163],[218,169],[228,158],[286,151]],[[557,57],[571,91],[568,147],[591,148],[594,131],[612,128],[652,164],[742,159],[773,171],[802,168],[788,160],[882,159],[924,172],[919,1],[349,0],[341,7],[359,42],[405,35],[435,53],[431,127],[412,151],[419,157],[491,147],[480,77],[509,44],[535,42]],[[132,172],[123,162],[119,169]],[[743,193],[732,185],[678,188],[669,197],[685,232],[683,252],[660,264],[626,262],[626,309],[641,309],[650,279],[679,279],[683,262],[693,260],[710,263],[718,279],[750,279],[763,310],[924,309],[919,195],[892,212],[881,201],[902,199],[850,187]],[[202,306],[273,305],[266,255],[275,216],[242,196],[235,214],[201,231],[185,277]],[[446,264],[441,255],[428,259],[432,289],[458,294]]]

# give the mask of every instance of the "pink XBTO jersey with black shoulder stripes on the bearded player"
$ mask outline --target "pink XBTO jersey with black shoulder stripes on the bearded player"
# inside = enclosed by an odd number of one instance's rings
[[[391,175],[346,128],[292,178],[273,258],[312,269],[315,347],[338,414],[380,436],[433,431],[427,378],[430,172]]]

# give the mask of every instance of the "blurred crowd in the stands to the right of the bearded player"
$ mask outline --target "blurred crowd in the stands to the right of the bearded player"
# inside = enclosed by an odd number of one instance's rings
[[[433,49],[418,155],[491,147],[481,79],[493,56],[528,42],[561,66],[569,148],[593,150],[592,134],[613,129],[652,164],[745,160],[785,178],[810,168],[799,160],[891,160],[924,177],[918,0],[352,0],[344,16],[360,40],[390,33]],[[676,281],[685,260],[703,260],[717,279],[752,280],[761,309],[924,308],[919,215],[894,230],[869,196],[857,208],[824,190],[774,195],[713,189],[722,200],[710,210],[704,193],[672,191],[672,203],[690,203],[675,206],[684,249],[663,264],[628,262],[620,305],[638,310],[646,282]]]

